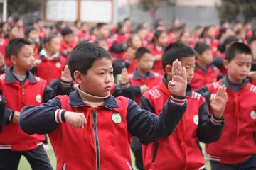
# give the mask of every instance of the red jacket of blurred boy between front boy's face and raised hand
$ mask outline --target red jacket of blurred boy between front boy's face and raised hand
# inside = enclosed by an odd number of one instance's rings
[[[140,98],[142,97],[142,91],[141,86],[146,85],[149,86],[149,89],[159,84],[159,81],[163,79],[163,76],[155,73],[155,72],[149,72],[146,75],[146,79],[144,79],[142,76],[140,76],[137,72],[137,70],[134,71],[133,74],[128,74],[129,76],[129,82],[134,88],[134,95],[135,95],[135,102],[139,105]]]

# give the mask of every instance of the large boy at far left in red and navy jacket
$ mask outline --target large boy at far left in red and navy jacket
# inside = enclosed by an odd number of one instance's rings
[[[0,93],[6,100],[6,111],[0,132],[0,169],[17,169],[21,156],[25,156],[32,169],[52,169],[42,141],[45,135],[27,135],[18,125],[24,106],[39,106],[54,98],[55,92],[46,81],[34,77],[34,52],[31,42],[23,38],[10,41],[7,56],[13,63],[0,76]],[[58,86],[56,91],[67,89]]]

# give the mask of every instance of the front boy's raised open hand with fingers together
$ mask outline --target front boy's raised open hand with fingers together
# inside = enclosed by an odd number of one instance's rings
[[[168,89],[171,94],[185,96],[187,87],[186,69],[181,67],[181,62],[175,60],[172,65],[172,80],[169,81]]]

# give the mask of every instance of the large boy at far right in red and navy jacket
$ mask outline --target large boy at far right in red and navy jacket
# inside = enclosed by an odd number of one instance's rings
[[[252,64],[250,47],[235,42],[225,52],[224,64],[228,75],[198,90],[210,100],[219,86],[226,86],[228,93],[223,134],[206,145],[206,152],[213,170],[256,169],[256,86],[247,79]]]

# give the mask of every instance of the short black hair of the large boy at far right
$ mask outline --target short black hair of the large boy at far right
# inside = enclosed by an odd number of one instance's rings
[[[235,42],[226,50],[225,60],[228,60],[228,62],[230,62],[231,60],[233,60],[235,55],[238,54],[252,55],[252,50],[245,43]]]

